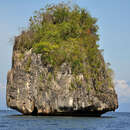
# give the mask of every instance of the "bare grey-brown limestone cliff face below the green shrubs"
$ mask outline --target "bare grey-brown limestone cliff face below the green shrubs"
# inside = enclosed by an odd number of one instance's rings
[[[105,80],[104,76],[100,78]],[[43,65],[41,55],[32,49],[21,54],[14,47],[7,77],[7,105],[29,115],[100,116],[118,108],[114,87],[108,87],[106,81],[96,88],[93,82],[90,79],[88,85],[82,74],[75,77],[66,63],[54,71]]]

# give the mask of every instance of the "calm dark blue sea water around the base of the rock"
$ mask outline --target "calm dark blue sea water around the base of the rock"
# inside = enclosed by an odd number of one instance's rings
[[[107,113],[102,117],[44,117],[0,111],[0,130],[130,130],[130,113]]]

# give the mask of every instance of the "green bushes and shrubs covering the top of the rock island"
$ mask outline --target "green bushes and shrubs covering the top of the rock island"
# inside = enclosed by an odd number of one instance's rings
[[[29,28],[22,32],[15,46],[21,53],[32,48],[34,53],[42,54],[43,64],[51,65],[53,69],[67,63],[72,74],[83,74],[87,83],[92,79],[97,89],[105,84],[104,79],[112,85],[110,69],[106,67],[97,44],[97,19],[85,9],[63,3],[49,5],[35,11],[29,21]],[[29,60],[27,70],[30,63]],[[102,73],[104,79],[100,76]]]

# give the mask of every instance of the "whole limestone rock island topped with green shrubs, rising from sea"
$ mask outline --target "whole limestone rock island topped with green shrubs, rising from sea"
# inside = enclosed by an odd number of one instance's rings
[[[7,105],[25,115],[100,116],[118,108],[96,18],[78,6],[48,5],[15,37]]]

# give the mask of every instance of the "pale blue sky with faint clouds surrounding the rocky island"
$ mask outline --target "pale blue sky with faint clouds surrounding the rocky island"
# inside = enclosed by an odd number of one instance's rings
[[[67,1],[67,0],[66,0]],[[121,112],[130,112],[130,0],[71,0],[98,19],[101,49],[114,70]],[[6,109],[6,79],[14,36],[28,26],[35,10],[61,0],[0,0],[0,109]]]

